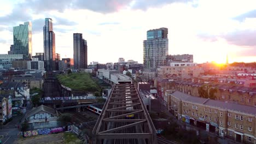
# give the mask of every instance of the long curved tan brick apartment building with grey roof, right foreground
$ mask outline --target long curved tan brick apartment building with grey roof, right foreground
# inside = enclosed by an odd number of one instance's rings
[[[170,94],[171,112],[180,121],[237,142],[256,143],[256,107],[193,97],[176,91]]]

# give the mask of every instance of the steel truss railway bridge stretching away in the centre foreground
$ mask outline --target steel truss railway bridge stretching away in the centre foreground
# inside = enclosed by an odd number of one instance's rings
[[[129,119],[127,116],[134,117]],[[154,124],[134,84],[113,86],[92,130],[92,143],[157,143]]]

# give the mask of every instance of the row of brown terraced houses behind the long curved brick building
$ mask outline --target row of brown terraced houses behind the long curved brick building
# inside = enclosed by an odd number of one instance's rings
[[[213,89],[215,90],[212,91]],[[195,97],[205,97],[214,100],[228,101],[229,103],[256,106],[256,88],[253,87],[244,87],[229,83],[179,81],[176,82],[176,90]]]

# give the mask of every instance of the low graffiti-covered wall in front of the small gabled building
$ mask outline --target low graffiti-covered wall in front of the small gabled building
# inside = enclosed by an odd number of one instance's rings
[[[53,134],[53,133],[60,133],[63,132],[64,128],[51,128],[51,129],[38,129],[38,130],[28,130],[24,131],[24,136],[32,136],[32,135],[46,135],[46,134]]]

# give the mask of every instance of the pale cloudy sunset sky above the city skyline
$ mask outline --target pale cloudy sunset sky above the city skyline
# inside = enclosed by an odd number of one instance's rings
[[[56,53],[73,57],[73,33],[83,33],[88,62],[143,63],[147,31],[168,28],[170,55],[194,62],[256,61],[256,1],[247,0],[0,0],[0,53],[13,27],[32,22],[32,52],[43,52],[44,19],[53,19]]]

